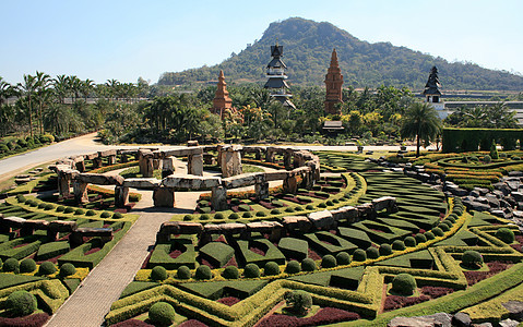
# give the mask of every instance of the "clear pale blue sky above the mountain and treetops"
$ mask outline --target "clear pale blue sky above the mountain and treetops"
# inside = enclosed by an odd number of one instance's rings
[[[290,16],[328,21],[370,43],[523,73],[523,1],[0,0],[0,76],[36,70],[96,83],[156,83],[213,65]]]

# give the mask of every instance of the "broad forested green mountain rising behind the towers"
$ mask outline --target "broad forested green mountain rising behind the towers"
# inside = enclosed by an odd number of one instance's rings
[[[335,48],[346,87],[378,87],[382,84],[423,89],[432,65],[437,65],[444,89],[523,90],[523,76],[480,68],[473,63],[448,62],[442,58],[395,47],[390,43],[370,44],[328,22],[292,17],[271,23],[263,37],[238,55],[213,66],[182,72],[166,72],[161,85],[194,85],[216,81],[224,70],[228,82],[266,81],[265,66],[271,61],[270,47],[284,46],[290,85],[323,85]]]

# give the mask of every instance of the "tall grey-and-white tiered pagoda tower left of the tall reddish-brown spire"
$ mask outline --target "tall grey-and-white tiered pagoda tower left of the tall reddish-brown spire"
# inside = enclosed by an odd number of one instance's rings
[[[289,86],[285,82],[287,80],[285,74],[287,65],[282,60],[283,46],[278,46],[277,41],[275,46],[271,46],[271,56],[273,59],[266,65],[266,76],[269,80],[264,88],[268,88],[271,96],[282,102],[284,107],[296,109],[296,106],[289,99],[293,95],[288,92]]]

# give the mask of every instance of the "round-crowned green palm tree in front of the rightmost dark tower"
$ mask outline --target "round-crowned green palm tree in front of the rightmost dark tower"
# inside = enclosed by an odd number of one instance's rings
[[[400,133],[402,137],[416,137],[416,157],[419,157],[420,141],[426,144],[435,141],[441,128],[441,120],[432,106],[415,102],[405,112]]]

